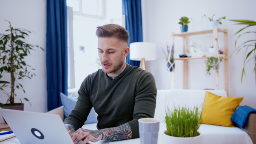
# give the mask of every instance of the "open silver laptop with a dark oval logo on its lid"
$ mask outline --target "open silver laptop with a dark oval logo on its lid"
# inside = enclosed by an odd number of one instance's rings
[[[21,144],[74,144],[57,114],[0,109],[0,114]],[[81,143],[81,141],[79,142]],[[87,144],[106,144],[98,141]]]

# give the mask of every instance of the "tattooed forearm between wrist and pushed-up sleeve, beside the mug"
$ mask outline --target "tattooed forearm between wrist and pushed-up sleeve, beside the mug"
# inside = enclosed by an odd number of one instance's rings
[[[132,131],[129,124],[122,124],[119,127],[107,128],[102,131],[105,133],[104,136],[102,135],[102,139],[106,141],[120,141],[132,137]]]

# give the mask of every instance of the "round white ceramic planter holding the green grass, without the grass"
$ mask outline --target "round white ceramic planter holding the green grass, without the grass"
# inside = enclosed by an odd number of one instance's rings
[[[163,133],[163,144],[202,144],[202,135],[180,138]]]

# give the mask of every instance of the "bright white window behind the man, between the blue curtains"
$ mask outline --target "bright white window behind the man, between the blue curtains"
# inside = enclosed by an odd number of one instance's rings
[[[87,75],[102,68],[96,27],[108,23],[124,26],[122,0],[67,0],[67,6],[73,8],[68,12],[68,86],[69,91],[77,91]]]

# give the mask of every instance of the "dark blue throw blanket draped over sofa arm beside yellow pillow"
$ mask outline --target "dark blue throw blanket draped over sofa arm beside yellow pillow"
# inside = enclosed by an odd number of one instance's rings
[[[236,111],[231,117],[231,120],[234,121],[237,126],[244,129],[249,119],[250,113],[252,112],[256,113],[256,109],[253,109],[248,106],[241,106],[238,109],[236,109]]]

